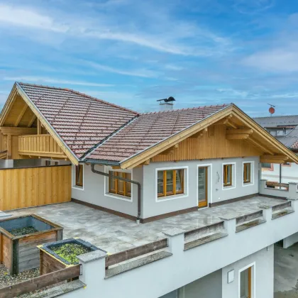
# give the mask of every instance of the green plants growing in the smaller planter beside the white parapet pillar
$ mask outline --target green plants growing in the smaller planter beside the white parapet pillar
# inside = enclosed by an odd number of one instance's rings
[[[78,263],[77,255],[89,253],[90,248],[86,248],[83,245],[77,243],[65,243],[56,247],[51,248],[54,253],[60,255],[61,258],[67,260],[70,264]]]

